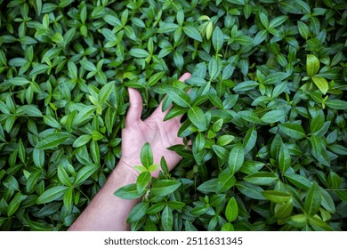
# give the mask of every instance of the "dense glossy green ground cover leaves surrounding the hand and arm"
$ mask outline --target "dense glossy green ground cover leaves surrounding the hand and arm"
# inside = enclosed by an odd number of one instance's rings
[[[143,117],[173,103],[191,141],[157,179],[145,145],[137,183],[115,189],[141,197],[133,230],[347,229],[345,1],[0,6],[2,230],[77,219],[121,155],[127,87]]]

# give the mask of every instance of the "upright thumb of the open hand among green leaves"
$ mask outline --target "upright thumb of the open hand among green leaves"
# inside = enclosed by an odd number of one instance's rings
[[[128,113],[126,114],[125,125],[132,124],[141,120],[142,114],[142,98],[140,92],[129,87],[129,102]]]

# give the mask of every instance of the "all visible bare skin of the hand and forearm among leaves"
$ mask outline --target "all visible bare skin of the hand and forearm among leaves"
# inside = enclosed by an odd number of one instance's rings
[[[181,76],[180,81],[190,78],[189,73]],[[181,160],[181,157],[167,148],[182,144],[182,138],[177,136],[181,126],[182,116],[164,121],[164,116],[170,108],[162,111],[162,103],[144,121],[141,120],[142,99],[140,92],[128,88],[130,106],[125,118],[125,129],[122,130],[122,156],[109,175],[108,181],[98,194],[93,197],[92,202],[81,213],[69,230],[92,230],[106,231],[129,229],[126,219],[133,207],[139,203],[139,199],[126,200],[114,195],[114,192],[131,183],[135,183],[138,172],[134,165],[141,165],[141,149],[146,142],[153,151],[154,164],[159,165],[161,157],[171,171]],[[152,173],[157,177],[160,168]]]

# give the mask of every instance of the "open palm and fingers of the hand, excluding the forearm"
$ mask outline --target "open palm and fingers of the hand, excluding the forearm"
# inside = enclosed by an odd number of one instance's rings
[[[190,73],[185,73],[180,77],[180,81],[190,78]],[[167,148],[182,144],[182,138],[177,136],[181,126],[182,116],[175,116],[164,121],[164,117],[170,108],[162,111],[162,102],[156,110],[144,121],[141,120],[142,98],[140,92],[133,88],[128,88],[130,107],[125,118],[125,129],[122,130],[122,156],[120,158],[122,167],[134,174],[137,173],[133,166],[141,165],[141,149],[146,142],[153,152],[153,162],[159,165],[161,157],[165,157],[166,164],[171,171],[182,159],[177,153]],[[157,169],[152,176],[157,177],[160,169]]]

